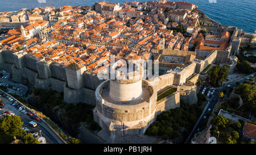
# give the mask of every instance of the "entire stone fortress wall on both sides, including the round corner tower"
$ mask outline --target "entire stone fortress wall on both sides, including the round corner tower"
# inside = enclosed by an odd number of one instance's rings
[[[13,81],[27,78],[35,88],[63,92],[64,102],[96,105],[94,120],[108,135],[105,140],[114,143],[127,136],[143,136],[158,114],[180,107],[181,99],[197,103],[195,83],[199,73],[209,64],[225,62],[229,53],[215,50],[204,60],[194,59],[182,68],[147,80],[142,79],[143,70],[127,73],[127,79],[98,79],[97,74],[79,64],[64,66],[12,51],[0,51],[0,69],[10,72]],[[138,79],[130,79],[130,75]],[[172,87],[176,88],[174,93],[157,100],[158,93]]]

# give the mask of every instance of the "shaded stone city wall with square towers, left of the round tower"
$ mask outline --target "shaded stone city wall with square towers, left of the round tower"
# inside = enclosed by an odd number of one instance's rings
[[[95,90],[104,81],[85,68],[66,69],[64,65],[39,60],[26,52],[0,51],[0,69],[11,73],[15,82],[27,78],[35,88],[64,92],[67,103],[96,104]]]

